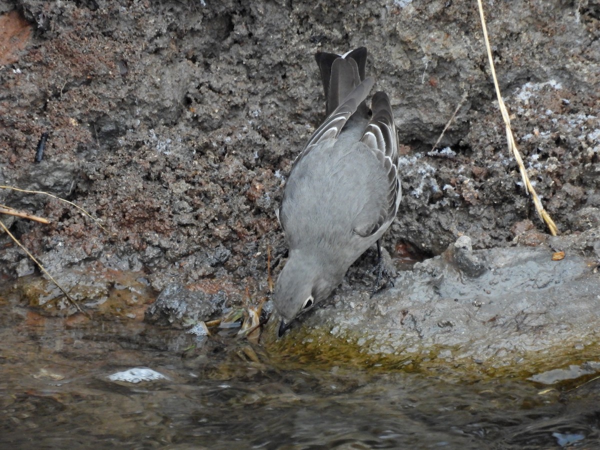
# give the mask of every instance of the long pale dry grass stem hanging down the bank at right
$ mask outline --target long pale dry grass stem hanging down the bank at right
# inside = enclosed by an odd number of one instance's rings
[[[527,188],[527,192],[529,192],[533,198],[533,204],[535,205],[535,210],[538,212],[538,217],[543,220],[548,226],[548,230],[550,230],[550,234],[556,236],[558,231],[556,224],[550,217],[550,214],[546,212],[544,206],[542,206],[542,202],[538,197],[535,189],[533,188],[531,182],[529,181],[529,176],[527,176],[527,171],[525,170],[525,166],[523,165],[523,159],[521,158],[521,154],[518,151],[517,143],[515,143],[515,137],[512,134],[511,128],[511,119],[508,115],[508,110],[506,110],[506,106],[504,101],[502,100],[502,95],[500,94],[500,87],[498,86],[498,80],[496,78],[496,70],[494,68],[494,59],[491,54],[490,40],[488,39],[487,34],[487,26],[485,25],[485,16],[484,16],[484,8],[481,4],[481,0],[477,0],[477,4],[479,6],[479,17],[481,18],[481,26],[484,32],[484,40],[485,40],[485,48],[487,49],[488,61],[490,61],[490,70],[491,76],[494,80],[494,88],[496,88],[496,97],[498,98],[498,104],[500,107],[500,112],[502,112],[502,119],[504,120],[504,124],[506,125],[506,142],[508,143],[508,150],[511,152],[517,164],[519,166],[519,170],[521,172],[521,178],[523,179],[523,184]]]

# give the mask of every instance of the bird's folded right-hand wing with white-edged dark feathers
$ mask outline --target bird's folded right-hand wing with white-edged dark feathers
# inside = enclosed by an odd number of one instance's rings
[[[371,101],[373,116],[362,134],[361,142],[371,149],[387,175],[387,198],[379,208],[376,218],[361,223],[355,228],[359,236],[370,236],[382,227],[387,228],[394,220],[402,197],[400,180],[398,179],[398,143],[392,107],[385,92],[377,92]]]

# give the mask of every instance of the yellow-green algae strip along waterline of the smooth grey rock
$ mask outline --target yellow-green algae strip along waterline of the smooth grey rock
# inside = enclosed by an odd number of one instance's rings
[[[358,334],[341,338],[332,335],[325,328],[308,329],[299,326],[284,337],[277,338],[271,328],[262,336],[262,345],[269,353],[271,364],[296,370],[331,370],[342,367],[344,370],[373,374],[404,371],[443,377],[454,382],[477,382],[495,378],[528,379],[548,370],[600,361],[600,343],[583,344],[574,339],[545,350],[506,352],[502,358],[482,361],[468,356],[449,356],[461,355],[464,353],[464,346],[423,345],[416,346],[415,350],[413,345],[412,351],[398,348],[394,353],[371,353],[366,350],[369,347],[368,341],[365,342]],[[569,388],[591,378],[586,374],[577,379],[562,380],[559,384]]]

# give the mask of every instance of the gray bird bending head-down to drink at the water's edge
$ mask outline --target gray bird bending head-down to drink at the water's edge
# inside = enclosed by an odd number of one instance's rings
[[[275,308],[290,322],[327,298],[362,253],[394,221],[401,199],[394,117],[385,92],[365,99],[367,49],[317,53],[327,118],[296,157],[277,218],[289,258],[275,287]],[[380,273],[381,273],[380,260]]]

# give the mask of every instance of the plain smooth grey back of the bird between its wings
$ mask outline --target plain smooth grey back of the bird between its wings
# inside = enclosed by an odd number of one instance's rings
[[[388,175],[373,152],[353,136],[326,140],[298,161],[286,184],[280,220],[290,250],[305,248],[351,264],[388,205]]]

